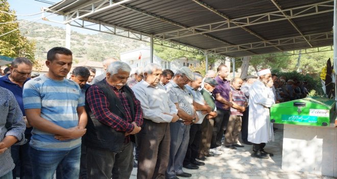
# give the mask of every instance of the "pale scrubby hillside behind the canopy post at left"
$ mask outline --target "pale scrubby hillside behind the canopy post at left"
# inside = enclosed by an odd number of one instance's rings
[[[21,23],[20,26],[26,23]],[[51,25],[33,23],[20,29],[21,34],[36,42],[35,58],[45,60],[53,47],[64,47],[65,29]],[[118,57],[119,53],[137,49],[144,42],[107,33],[82,34],[71,31],[71,51],[75,61],[102,61],[106,57]]]

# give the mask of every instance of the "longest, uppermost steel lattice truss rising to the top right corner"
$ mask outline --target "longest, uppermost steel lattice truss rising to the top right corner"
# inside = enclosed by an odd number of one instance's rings
[[[328,9],[327,9],[328,8]],[[322,14],[333,12],[333,0],[324,1],[320,3],[300,6],[279,11],[267,12],[246,17],[234,18],[231,20],[224,20],[215,23],[190,27],[187,29],[178,29],[155,34],[158,38],[163,40],[172,40],[182,37],[189,37],[198,34],[205,34],[210,32],[218,32],[228,29],[247,27],[258,24],[271,23],[274,21],[293,19],[298,17],[310,16],[315,14]],[[283,15],[290,14],[290,15]],[[239,24],[239,26],[237,26]]]

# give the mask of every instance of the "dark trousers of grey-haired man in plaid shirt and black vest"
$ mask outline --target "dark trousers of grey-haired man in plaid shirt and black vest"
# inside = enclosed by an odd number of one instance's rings
[[[87,147],[88,178],[110,179],[112,168],[117,164],[119,178],[130,178],[133,169],[131,142],[123,144],[121,152]],[[112,176],[114,178],[114,176]]]

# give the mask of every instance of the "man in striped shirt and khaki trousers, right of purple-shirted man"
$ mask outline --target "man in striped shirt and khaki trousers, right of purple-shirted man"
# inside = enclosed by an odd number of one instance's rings
[[[247,106],[245,94],[240,91],[243,81],[241,78],[234,78],[230,85],[230,100],[233,106],[230,108],[230,116],[225,133],[225,147],[236,149],[236,147],[244,147],[237,144],[238,135],[241,130],[243,112]]]

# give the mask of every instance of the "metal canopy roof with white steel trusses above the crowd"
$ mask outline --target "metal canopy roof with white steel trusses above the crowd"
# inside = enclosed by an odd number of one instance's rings
[[[333,44],[333,0],[67,0],[63,24],[215,57]]]

